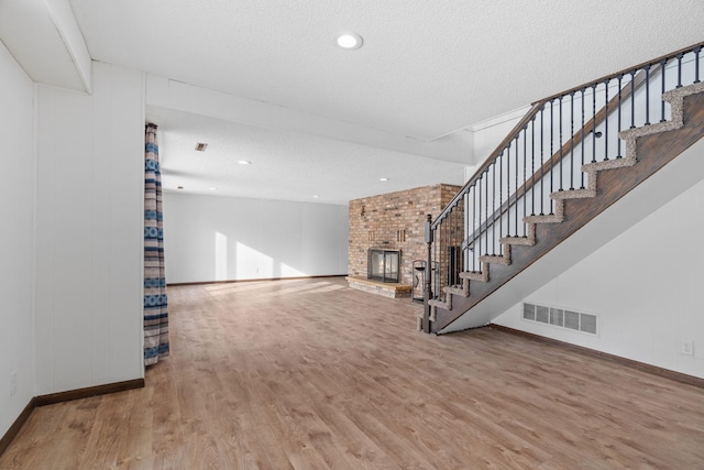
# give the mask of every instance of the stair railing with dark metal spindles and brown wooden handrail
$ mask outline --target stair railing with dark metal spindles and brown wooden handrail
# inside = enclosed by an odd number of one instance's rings
[[[432,222],[428,265],[443,299],[480,256],[503,256],[502,239],[527,237],[524,217],[553,215],[554,192],[584,189],[585,163],[623,159],[618,133],[670,119],[663,92],[700,83],[700,43],[535,102]],[[428,236],[427,236],[428,239]],[[428,240],[427,240],[428,241]],[[424,328],[429,331],[426,300]]]

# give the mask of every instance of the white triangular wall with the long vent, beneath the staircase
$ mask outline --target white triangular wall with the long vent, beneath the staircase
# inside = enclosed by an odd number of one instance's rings
[[[704,181],[525,299],[596,315],[597,336],[522,320],[521,304],[494,323],[704,378],[702,233]]]

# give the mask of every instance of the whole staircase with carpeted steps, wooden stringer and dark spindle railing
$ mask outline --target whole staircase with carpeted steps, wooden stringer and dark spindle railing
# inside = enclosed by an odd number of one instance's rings
[[[535,103],[427,223],[427,265],[437,267],[435,280],[426,275],[418,329],[448,332],[490,323],[503,313],[492,294],[506,291],[514,277],[698,141],[702,45]],[[430,292],[431,285],[441,292]],[[503,296],[505,307],[520,300]]]

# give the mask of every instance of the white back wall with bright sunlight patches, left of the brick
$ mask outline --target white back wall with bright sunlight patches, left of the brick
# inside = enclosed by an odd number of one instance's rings
[[[348,207],[164,194],[168,283],[348,272]]]

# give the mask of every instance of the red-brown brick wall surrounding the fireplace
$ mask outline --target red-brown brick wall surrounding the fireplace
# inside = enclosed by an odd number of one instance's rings
[[[435,219],[459,190],[439,184],[351,200],[349,275],[366,277],[370,248],[402,250],[400,282],[411,284],[414,260],[427,255],[426,215]]]

